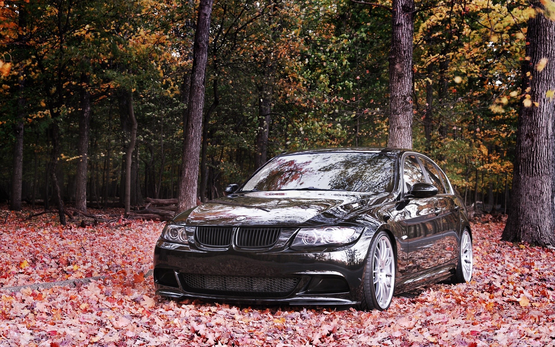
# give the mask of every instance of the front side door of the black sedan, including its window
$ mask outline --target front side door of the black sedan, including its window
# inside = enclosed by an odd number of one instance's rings
[[[429,183],[423,173],[422,165],[415,154],[403,159],[403,188],[405,193],[415,183]],[[411,198],[405,205],[403,227],[405,235],[401,237],[408,248],[406,273],[415,273],[430,269],[440,264],[441,217],[436,197]],[[406,237],[406,238],[405,238]]]

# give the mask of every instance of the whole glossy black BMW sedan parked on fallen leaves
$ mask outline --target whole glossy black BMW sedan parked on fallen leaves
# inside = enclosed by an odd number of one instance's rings
[[[226,191],[166,224],[157,294],[385,310],[394,293],[471,280],[465,204],[426,155],[282,154]]]

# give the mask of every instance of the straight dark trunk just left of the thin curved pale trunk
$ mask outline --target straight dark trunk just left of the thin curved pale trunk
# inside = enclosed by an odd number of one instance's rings
[[[89,150],[89,124],[90,124],[90,92],[87,89],[89,77],[83,73],[81,76],[80,105],[81,114],[79,117],[79,144],[77,155],[77,174],[75,175],[75,208],[87,212],[87,168]]]

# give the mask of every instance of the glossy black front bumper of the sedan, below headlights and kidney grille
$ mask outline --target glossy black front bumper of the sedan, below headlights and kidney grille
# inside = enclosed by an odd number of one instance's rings
[[[332,252],[307,253],[291,249],[241,252],[236,249],[198,249],[194,245],[189,247],[159,239],[154,250],[156,293],[171,298],[255,305],[356,305],[360,303],[369,243],[370,235],[362,235],[350,247]],[[164,272],[175,276],[173,284],[168,285],[168,281],[160,279],[159,274]],[[254,292],[214,292],[191,288],[184,280],[184,274],[226,278],[295,278],[296,284],[288,293],[278,296]],[[324,286],[315,285],[317,283],[324,283]]]

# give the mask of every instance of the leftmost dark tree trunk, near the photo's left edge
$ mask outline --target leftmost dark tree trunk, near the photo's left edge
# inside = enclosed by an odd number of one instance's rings
[[[21,69],[21,80],[19,81],[19,100],[17,103],[17,123],[15,127],[16,145],[13,149],[13,178],[12,197],[9,201],[9,209],[21,210],[21,185],[23,176],[23,117],[25,115],[25,79]]]

